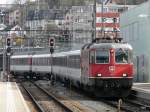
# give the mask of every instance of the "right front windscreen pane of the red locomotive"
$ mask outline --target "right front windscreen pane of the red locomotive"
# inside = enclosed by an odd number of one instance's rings
[[[128,49],[119,48],[115,51],[116,63],[128,63],[129,62],[129,52]]]

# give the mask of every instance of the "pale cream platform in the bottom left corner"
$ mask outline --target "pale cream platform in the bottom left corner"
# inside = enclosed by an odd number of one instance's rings
[[[0,82],[0,112],[30,112],[15,82]]]

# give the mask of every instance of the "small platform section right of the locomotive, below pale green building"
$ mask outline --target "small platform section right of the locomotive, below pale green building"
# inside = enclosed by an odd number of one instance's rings
[[[150,83],[134,83],[132,91],[136,96],[150,100]]]

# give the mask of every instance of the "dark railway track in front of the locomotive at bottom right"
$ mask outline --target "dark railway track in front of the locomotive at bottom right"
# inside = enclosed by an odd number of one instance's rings
[[[125,112],[150,112],[150,101],[137,97],[135,94],[131,94],[126,99],[120,99],[120,101],[108,101],[102,100],[108,105],[118,108],[118,111]]]

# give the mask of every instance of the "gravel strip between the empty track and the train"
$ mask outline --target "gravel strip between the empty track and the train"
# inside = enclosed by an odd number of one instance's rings
[[[43,83],[42,81],[36,82],[45,91],[55,94],[57,98],[63,102],[72,106],[74,112],[116,112],[112,106],[108,106],[104,103],[98,101],[98,99],[93,99],[87,95],[85,92],[77,90],[77,88],[67,88],[59,83],[49,85],[48,83]]]

